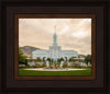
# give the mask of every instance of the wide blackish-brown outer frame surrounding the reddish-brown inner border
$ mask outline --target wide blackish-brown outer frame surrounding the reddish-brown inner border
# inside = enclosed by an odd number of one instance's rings
[[[21,2],[22,3],[22,2]],[[2,3],[3,7],[3,92],[106,92],[107,91],[107,3]],[[22,10],[21,10],[22,9]],[[21,80],[14,79],[14,14],[92,13],[96,14],[96,79],[94,80]],[[10,16],[9,16],[10,15]],[[7,24],[7,27],[4,26]],[[12,32],[8,32],[8,31]],[[103,46],[105,45],[105,46]],[[105,51],[105,52],[103,52]],[[7,58],[7,59],[6,59]],[[106,62],[105,62],[106,61]],[[26,84],[26,85],[25,85]],[[66,85],[65,85],[66,84]],[[30,90],[29,90],[30,89]],[[38,89],[38,90],[36,90]],[[65,89],[65,90],[64,90]],[[51,91],[50,91],[51,90]]]

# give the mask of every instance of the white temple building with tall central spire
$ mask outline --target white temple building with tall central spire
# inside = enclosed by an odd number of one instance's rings
[[[58,58],[64,58],[67,57],[67,59],[72,57],[78,58],[78,52],[76,50],[62,50],[62,47],[57,45],[57,35],[56,32],[54,33],[53,36],[53,45],[50,46],[48,50],[34,50],[32,52],[32,58],[36,59],[37,57],[40,58],[51,58],[53,61],[57,61]]]

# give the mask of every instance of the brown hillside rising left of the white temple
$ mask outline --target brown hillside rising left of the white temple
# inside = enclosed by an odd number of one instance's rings
[[[32,47],[32,46],[23,46],[23,47],[20,47],[20,48],[23,51],[23,54],[28,57],[32,57],[32,51],[40,50],[40,48]]]

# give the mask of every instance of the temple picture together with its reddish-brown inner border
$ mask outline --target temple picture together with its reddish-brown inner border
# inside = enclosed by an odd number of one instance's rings
[[[14,16],[16,80],[96,79],[95,14]]]

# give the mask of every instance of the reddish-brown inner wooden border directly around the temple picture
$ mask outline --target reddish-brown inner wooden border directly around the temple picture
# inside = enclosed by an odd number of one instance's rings
[[[96,14],[15,14],[14,15],[14,79],[15,80],[95,80],[96,79]],[[63,77],[50,77],[46,75],[45,78],[43,75],[30,75],[30,77],[20,77],[19,75],[19,19],[91,19],[91,55],[92,55],[92,70],[91,75],[63,75]]]

